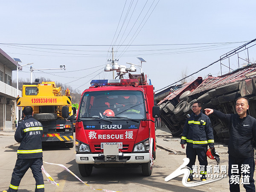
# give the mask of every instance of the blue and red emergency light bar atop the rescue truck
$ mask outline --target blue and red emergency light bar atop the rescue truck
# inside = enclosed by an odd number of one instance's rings
[[[138,79],[97,79],[90,82],[91,86],[138,85]]]

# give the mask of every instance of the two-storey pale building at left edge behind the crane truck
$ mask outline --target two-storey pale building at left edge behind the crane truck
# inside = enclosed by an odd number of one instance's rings
[[[17,70],[17,63],[0,49],[0,130],[15,128],[17,89],[11,86],[14,70]],[[21,96],[20,90],[18,95]]]

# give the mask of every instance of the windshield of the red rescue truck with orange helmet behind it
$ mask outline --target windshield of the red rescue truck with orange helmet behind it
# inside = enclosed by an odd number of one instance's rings
[[[145,100],[141,91],[110,90],[85,92],[79,107],[79,119],[145,119]]]

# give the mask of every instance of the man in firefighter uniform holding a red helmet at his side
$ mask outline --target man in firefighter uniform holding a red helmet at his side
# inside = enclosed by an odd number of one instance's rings
[[[211,122],[208,116],[201,112],[201,102],[194,102],[190,117],[186,120],[180,144],[182,148],[186,146],[186,157],[189,158],[187,165],[190,170],[188,181],[193,180],[192,166],[195,165],[196,156],[200,164],[201,180],[206,180],[207,174],[207,145],[214,148],[214,137]]]

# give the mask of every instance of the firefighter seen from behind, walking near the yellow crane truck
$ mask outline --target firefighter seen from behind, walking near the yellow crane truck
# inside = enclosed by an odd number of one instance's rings
[[[15,140],[20,143],[17,150],[17,161],[12,172],[12,180],[7,192],[17,192],[20,180],[30,168],[35,178],[35,192],[44,192],[41,122],[33,118],[33,109],[26,106],[23,109],[24,121],[20,122],[15,131]]]

